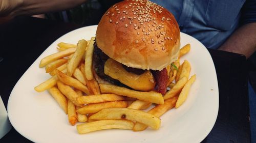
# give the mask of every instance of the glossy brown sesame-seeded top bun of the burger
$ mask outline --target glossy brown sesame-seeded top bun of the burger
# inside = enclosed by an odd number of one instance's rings
[[[151,1],[122,1],[102,16],[96,44],[128,67],[162,70],[179,55],[180,29],[169,11]]]

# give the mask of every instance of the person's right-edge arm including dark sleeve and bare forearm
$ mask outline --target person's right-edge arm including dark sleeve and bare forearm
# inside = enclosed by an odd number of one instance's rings
[[[247,0],[241,10],[240,24],[220,50],[244,54],[249,58],[256,51],[256,1]]]

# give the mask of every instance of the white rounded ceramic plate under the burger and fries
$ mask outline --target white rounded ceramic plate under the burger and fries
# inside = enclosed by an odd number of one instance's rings
[[[13,127],[34,142],[200,142],[215,124],[219,108],[218,82],[214,63],[208,50],[195,38],[181,33],[181,46],[191,44],[190,52],[183,56],[191,64],[191,74],[197,79],[187,100],[161,117],[159,130],[147,128],[142,132],[130,130],[102,130],[80,135],[68,122],[67,115],[48,92],[37,93],[35,85],[50,76],[39,62],[57,52],[59,42],[76,44],[80,39],[95,36],[97,26],[82,27],[52,43],[30,66],[16,83],[9,101],[8,113]]]

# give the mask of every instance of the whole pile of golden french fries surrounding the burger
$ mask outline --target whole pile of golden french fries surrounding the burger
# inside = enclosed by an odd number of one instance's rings
[[[48,90],[71,125],[82,123],[76,126],[80,134],[103,129],[143,131],[148,126],[159,129],[159,117],[184,103],[196,79],[196,75],[189,78],[187,60],[180,65],[180,57],[190,50],[190,44],[182,47],[178,60],[167,67],[170,90],[161,95],[99,84],[92,70],[94,40],[80,40],[77,45],[59,43],[58,52],[41,60],[39,67],[45,67],[51,78],[37,85],[35,91]]]

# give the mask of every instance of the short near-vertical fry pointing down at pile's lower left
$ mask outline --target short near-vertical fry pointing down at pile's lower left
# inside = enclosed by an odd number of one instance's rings
[[[76,107],[70,100],[68,100],[68,118],[72,126],[77,123]]]

